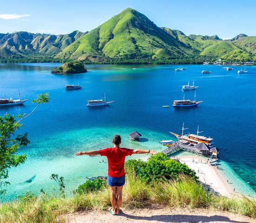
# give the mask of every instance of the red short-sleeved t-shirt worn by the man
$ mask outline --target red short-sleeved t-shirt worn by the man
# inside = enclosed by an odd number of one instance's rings
[[[99,152],[101,156],[108,158],[108,176],[110,177],[122,177],[125,157],[133,154],[133,150],[126,148],[107,148]]]

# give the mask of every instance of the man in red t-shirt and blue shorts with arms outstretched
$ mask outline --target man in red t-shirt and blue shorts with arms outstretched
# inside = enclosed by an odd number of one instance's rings
[[[119,215],[122,202],[122,188],[125,184],[125,157],[131,156],[132,154],[156,154],[157,152],[155,150],[131,150],[121,148],[121,137],[119,135],[114,136],[112,143],[114,144],[114,147],[112,148],[106,148],[98,151],[79,151],[74,155],[101,155],[108,158],[107,184],[110,187],[110,201],[112,204],[112,207],[110,207],[108,210],[112,215]]]

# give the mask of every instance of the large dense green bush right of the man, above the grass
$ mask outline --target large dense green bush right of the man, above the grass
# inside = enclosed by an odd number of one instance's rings
[[[148,162],[141,160],[128,160],[125,162],[125,169],[134,171],[135,174],[147,183],[159,182],[162,179],[178,179],[182,174],[197,179],[195,172],[185,164],[169,159],[160,152],[151,156]]]

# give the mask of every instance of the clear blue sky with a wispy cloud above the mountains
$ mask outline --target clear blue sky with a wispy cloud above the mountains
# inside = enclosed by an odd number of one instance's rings
[[[256,36],[256,0],[1,0],[0,33],[90,31],[127,7],[186,35]]]

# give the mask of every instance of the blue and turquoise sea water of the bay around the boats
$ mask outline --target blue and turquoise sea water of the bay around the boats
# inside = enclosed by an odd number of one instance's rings
[[[76,151],[110,147],[115,134],[121,135],[123,147],[160,151],[159,141],[175,139],[169,131],[181,133],[183,122],[190,133],[199,125],[202,135],[214,138],[222,174],[236,189],[245,194],[256,191],[256,66],[246,66],[248,72],[240,75],[237,71],[243,66],[226,71],[214,65],[188,65],[181,72],[175,72],[175,65],[88,65],[87,73],[51,74],[56,66],[60,64],[0,64],[0,97],[18,98],[20,90],[21,98],[30,99],[24,105],[0,107],[0,115],[29,113],[37,94],[49,92],[51,97],[23,121],[21,131],[28,132],[31,143],[18,151],[26,153],[27,160],[11,169],[5,199],[28,190],[37,194],[41,188],[52,193],[57,186],[50,179],[52,173],[63,176],[66,191],[72,191],[86,177],[107,174],[105,158],[102,163],[102,157],[75,157]],[[173,100],[183,98],[182,85],[193,80],[199,86],[196,100],[203,102],[174,108]],[[66,84],[78,82],[84,85],[81,90],[65,90]],[[115,102],[86,106],[88,99],[100,99],[104,93],[107,101]],[[194,99],[194,94],[185,92],[185,99]],[[141,142],[128,140],[132,131],[141,133]]]

